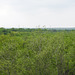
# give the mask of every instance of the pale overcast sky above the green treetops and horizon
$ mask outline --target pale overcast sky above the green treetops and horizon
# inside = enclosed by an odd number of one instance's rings
[[[75,27],[75,0],[0,0],[0,27]]]

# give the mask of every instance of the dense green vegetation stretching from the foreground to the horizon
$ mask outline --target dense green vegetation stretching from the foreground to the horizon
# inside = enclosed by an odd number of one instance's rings
[[[0,75],[75,75],[75,30],[0,28]]]

